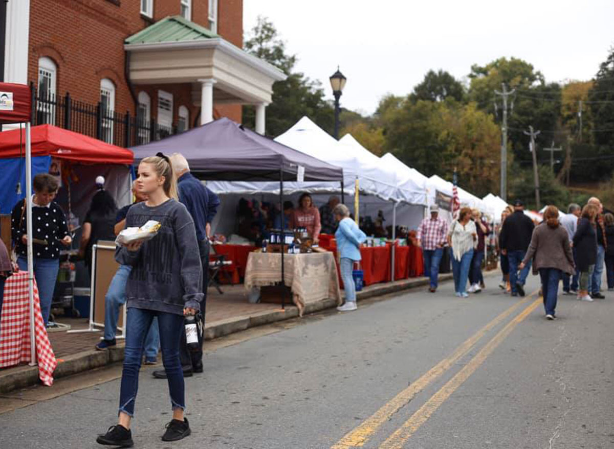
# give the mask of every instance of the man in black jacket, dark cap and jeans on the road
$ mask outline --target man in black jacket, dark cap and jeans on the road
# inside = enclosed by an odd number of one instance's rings
[[[517,199],[514,202],[514,213],[503,222],[503,229],[499,237],[500,246],[505,248],[502,253],[507,254],[510,261],[511,296],[518,296],[518,294],[524,296],[524,283],[529,275],[531,264],[529,261],[520,274],[518,274],[518,266],[529,248],[533,228],[535,228],[533,221],[524,215],[523,202]]]

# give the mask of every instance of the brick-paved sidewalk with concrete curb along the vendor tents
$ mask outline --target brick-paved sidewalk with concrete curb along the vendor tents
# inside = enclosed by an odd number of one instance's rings
[[[451,274],[440,275],[441,282],[451,278]],[[428,282],[428,278],[419,277],[370,285],[357,293],[357,299],[361,301],[374,296],[383,296],[397,291],[426,286]],[[294,305],[286,305],[286,309],[282,310],[279,304],[249,304],[243,285],[222,286],[222,290],[223,294],[219,294],[217,291],[209,293],[204,328],[205,340],[212,340],[255,326],[298,317],[298,309]],[[308,304],[305,315],[335,306],[336,303],[333,299]],[[84,318],[60,319],[58,321],[70,324],[72,329],[86,329],[88,327],[87,320]],[[94,346],[101,336],[102,332],[81,334],[68,334],[66,331],[50,332],[49,340],[58,359],[58,366],[53,373],[53,377],[55,379],[66,377],[122,361],[123,340],[117,340],[117,346],[108,351],[97,351]],[[36,383],[39,383],[37,366],[20,365],[0,370],[0,393],[36,385]]]

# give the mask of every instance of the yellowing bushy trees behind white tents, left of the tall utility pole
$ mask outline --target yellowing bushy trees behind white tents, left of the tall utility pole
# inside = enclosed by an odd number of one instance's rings
[[[475,102],[403,101],[388,96],[378,108],[384,152],[392,152],[425,175],[451,178],[477,195],[494,191],[499,182],[500,132],[492,115]]]

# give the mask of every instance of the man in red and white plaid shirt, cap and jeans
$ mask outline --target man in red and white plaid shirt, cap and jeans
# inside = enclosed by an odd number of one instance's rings
[[[443,256],[443,248],[448,236],[448,223],[439,218],[437,205],[430,207],[430,218],[422,220],[418,228],[418,245],[422,247],[424,254],[424,275],[430,277],[431,293],[437,290],[437,278],[439,276],[439,264]]]

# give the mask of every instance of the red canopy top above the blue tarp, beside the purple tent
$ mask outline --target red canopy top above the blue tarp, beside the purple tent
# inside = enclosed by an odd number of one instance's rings
[[[23,155],[25,129],[0,132],[0,158],[18,158]],[[53,156],[85,164],[132,165],[133,153],[126,148],[107,144],[102,140],[68,131],[53,125],[31,128],[32,156]]]

